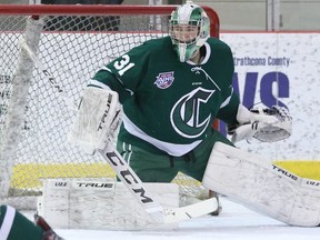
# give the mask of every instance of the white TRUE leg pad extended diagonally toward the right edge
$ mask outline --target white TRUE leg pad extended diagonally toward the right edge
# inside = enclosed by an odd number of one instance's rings
[[[320,223],[320,181],[222,142],[214,144],[202,184],[291,226]]]

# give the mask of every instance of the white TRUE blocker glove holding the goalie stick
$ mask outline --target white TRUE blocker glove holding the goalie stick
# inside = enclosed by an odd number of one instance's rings
[[[87,87],[80,102],[77,119],[68,140],[87,153],[103,149],[116,139],[120,126],[121,107],[118,93],[111,90]]]

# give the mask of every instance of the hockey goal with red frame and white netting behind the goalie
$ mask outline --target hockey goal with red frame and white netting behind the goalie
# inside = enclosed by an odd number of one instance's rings
[[[148,39],[167,36],[174,8],[0,6],[2,203],[36,209],[43,179],[114,180],[99,154],[87,156],[67,142],[74,112],[60,98],[59,88],[79,102],[99,68]],[[210,17],[211,36],[218,38],[219,18],[203,8]],[[36,60],[21,48],[21,39]],[[181,198],[203,198],[199,182],[180,173],[174,181]]]

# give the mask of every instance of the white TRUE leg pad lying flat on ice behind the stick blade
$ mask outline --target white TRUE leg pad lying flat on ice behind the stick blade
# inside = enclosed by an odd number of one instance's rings
[[[164,207],[179,206],[174,183],[146,183]],[[81,209],[81,211],[79,211]],[[112,180],[48,179],[38,199],[38,212],[53,228],[143,230],[177,229],[178,223],[159,224],[150,218],[122,182]]]

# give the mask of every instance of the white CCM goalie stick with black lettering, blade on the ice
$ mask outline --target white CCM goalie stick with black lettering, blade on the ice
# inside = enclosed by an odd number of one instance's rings
[[[26,50],[33,61],[34,66],[42,71],[51,87],[59,93],[59,96],[66,101],[73,111],[78,109],[73,101],[68,97],[63,89],[58,84],[52,74],[44,68],[39,61],[38,57],[30,49],[23,38],[20,39],[20,47]],[[137,199],[144,211],[150,218],[159,223],[173,223],[188,219],[201,217],[210,212],[216,211],[219,208],[219,203],[216,198],[210,198],[190,206],[181,208],[163,208],[150,192],[144,188],[143,182],[126,162],[121,154],[114,149],[113,142],[108,141],[108,144],[103,150],[98,150],[104,160],[110,164],[121,182],[129,189],[131,194]]]

